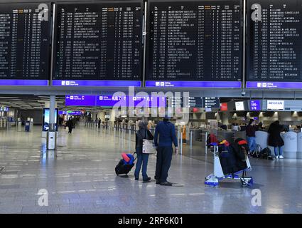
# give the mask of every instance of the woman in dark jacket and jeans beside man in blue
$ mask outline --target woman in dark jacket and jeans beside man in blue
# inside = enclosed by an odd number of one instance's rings
[[[137,155],[137,162],[136,168],[134,172],[135,180],[139,180],[139,172],[141,171],[141,165],[143,165],[143,181],[150,182],[151,178],[147,175],[147,165],[149,159],[149,153],[143,152],[143,142],[144,140],[153,140],[153,135],[147,128],[148,123],[145,121],[139,121],[139,130],[136,132],[136,140],[135,140],[135,147],[136,147],[136,155]]]

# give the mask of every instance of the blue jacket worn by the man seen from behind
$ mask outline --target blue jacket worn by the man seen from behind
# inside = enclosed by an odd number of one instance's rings
[[[159,134],[159,140],[158,140]],[[154,144],[159,147],[172,147],[172,142],[178,147],[175,133],[175,126],[169,121],[161,121],[156,125],[154,134]]]

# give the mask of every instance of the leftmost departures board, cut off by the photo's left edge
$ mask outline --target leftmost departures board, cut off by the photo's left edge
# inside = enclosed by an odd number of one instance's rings
[[[0,4],[0,86],[48,86],[48,4]]]

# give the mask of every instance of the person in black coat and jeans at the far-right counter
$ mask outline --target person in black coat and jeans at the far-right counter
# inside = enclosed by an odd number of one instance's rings
[[[282,130],[283,130],[283,126],[280,125],[280,122],[278,120],[276,120],[274,123],[271,123],[271,125],[269,126],[269,130],[267,131],[269,133],[268,145],[274,147],[276,159],[284,158],[283,156],[284,140],[281,138],[280,135]],[[279,155],[278,155],[278,150],[279,150]]]

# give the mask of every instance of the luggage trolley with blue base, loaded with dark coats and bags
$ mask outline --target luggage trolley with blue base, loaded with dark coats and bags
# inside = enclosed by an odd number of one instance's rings
[[[224,179],[233,179],[240,180],[243,187],[252,186],[253,185],[253,177],[247,177],[247,171],[251,171],[252,167],[249,163],[249,157],[247,157],[247,168],[244,170],[239,170],[238,172],[234,172],[234,174],[225,175],[222,171],[222,166],[220,163],[219,151],[217,143],[210,144],[214,149],[214,173],[205,177],[205,185],[216,187],[219,185],[219,182]],[[240,176],[240,173],[242,175]]]

